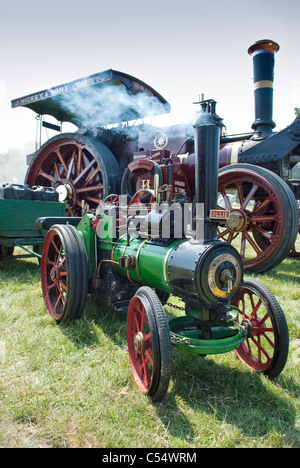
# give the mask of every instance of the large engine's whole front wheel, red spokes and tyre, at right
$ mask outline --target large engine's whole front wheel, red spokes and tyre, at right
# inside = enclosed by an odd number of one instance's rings
[[[219,170],[218,208],[230,211],[218,238],[233,244],[245,271],[261,273],[284,260],[299,227],[295,197],[276,174],[259,166],[236,164]]]

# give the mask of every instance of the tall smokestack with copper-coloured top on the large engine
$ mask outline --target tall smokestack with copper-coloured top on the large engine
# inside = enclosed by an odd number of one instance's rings
[[[266,138],[275,127],[273,122],[273,80],[275,52],[279,45],[271,40],[262,39],[248,49],[253,56],[255,121],[252,128],[259,137]]]

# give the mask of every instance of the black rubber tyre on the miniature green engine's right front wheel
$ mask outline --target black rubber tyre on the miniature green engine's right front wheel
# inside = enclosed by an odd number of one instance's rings
[[[288,357],[288,351],[289,351],[289,332],[288,332],[288,326],[287,322],[284,316],[284,313],[277,302],[275,296],[273,293],[260,281],[254,280],[251,278],[247,278],[244,280],[244,284],[241,287],[241,290],[237,294],[237,296],[234,298],[234,300],[231,302],[231,305],[237,306],[239,300],[244,300],[245,294],[253,294],[259,298],[258,301],[262,301],[262,306],[264,307],[263,313],[266,310],[268,313],[268,316],[270,318],[270,321],[272,323],[273,327],[273,339],[274,339],[274,349],[273,349],[273,356],[270,359],[270,362],[268,363],[267,367],[266,366],[261,366],[261,369],[259,368],[259,365],[251,365],[251,362],[255,363],[255,359],[249,354],[247,355],[246,352],[246,344],[242,343],[242,345],[239,346],[239,348],[236,349],[236,354],[239,357],[239,359],[247,366],[250,367],[254,371],[258,371],[263,373],[269,378],[274,378],[277,377],[282,370],[284,369],[284,366],[287,361]],[[256,304],[257,305],[257,304]],[[259,306],[260,307],[260,306]],[[259,308],[258,308],[259,310]],[[255,323],[255,314],[253,314],[253,311],[249,310],[248,318],[251,316],[250,322]],[[265,333],[264,326],[265,323],[267,322],[268,318],[265,320],[265,322],[262,323],[262,338],[263,338],[263,333]],[[255,325],[254,325],[255,326]],[[268,332],[266,332],[268,333]],[[254,335],[255,341],[257,341],[256,336]],[[270,336],[269,336],[270,338]],[[252,337],[249,337],[250,340],[252,340]],[[255,345],[252,344],[252,348],[254,348]],[[260,346],[263,348],[263,343],[260,343]],[[267,364],[267,363],[266,363]]]

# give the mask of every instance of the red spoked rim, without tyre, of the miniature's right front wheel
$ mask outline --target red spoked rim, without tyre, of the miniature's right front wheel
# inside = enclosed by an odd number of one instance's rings
[[[243,323],[248,338],[236,350],[239,359],[251,370],[266,371],[276,352],[275,331],[262,298],[243,286],[232,301],[238,308],[236,321]]]

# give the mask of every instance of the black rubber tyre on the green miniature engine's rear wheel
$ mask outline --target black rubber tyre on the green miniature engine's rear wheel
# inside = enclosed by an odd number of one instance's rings
[[[85,275],[85,279],[83,277],[85,270],[83,270],[82,250],[79,248],[78,239],[76,239],[73,229],[72,226],[54,225],[45,237],[42,253],[41,279],[45,305],[49,314],[54,316],[58,323],[80,317],[86,301],[88,278],[87,275]],[[61,263],[60,258],[57,260],[55,257],[53,258],[55,252],[51,240],[54,238],[56,238],[58,245],[62,246],[62,260],[65,257],[65,265],[63,268],[60,267],[62,273],[66,275],[64,304],[63,307],[59,308],[55,288],[53,288],[53,293],[50,292],[50,287],[52,287],[50,266],[56,262],[59,269]]]

